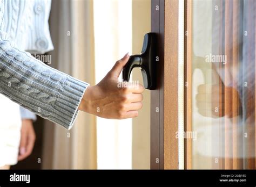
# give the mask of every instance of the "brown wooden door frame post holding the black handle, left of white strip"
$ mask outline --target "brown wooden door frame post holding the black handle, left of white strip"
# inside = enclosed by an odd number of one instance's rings
[[[178,0],[151,0],[159,56],[151,91],[151,169],[178,169],[178,6]]]

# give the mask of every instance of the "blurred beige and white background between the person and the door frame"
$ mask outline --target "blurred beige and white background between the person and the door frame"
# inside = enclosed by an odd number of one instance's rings
[[[49,66],[97,84],[124,54],[139,54],[150,32],[150,0],[55,0]],[[143,84],[139,69],[132,80]],[[80,112],[72,130],[38,117],[33,153],[12,169],[150,169],[150,91],[139,117],[109,120]]]

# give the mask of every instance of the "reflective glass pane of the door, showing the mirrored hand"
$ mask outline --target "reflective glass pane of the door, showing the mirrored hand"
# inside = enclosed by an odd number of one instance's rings
[[[255,6],[188,3],[187,168],[255,169]]]

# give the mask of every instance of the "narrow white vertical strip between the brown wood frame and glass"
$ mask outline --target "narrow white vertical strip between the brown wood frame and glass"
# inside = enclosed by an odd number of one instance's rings
[[[184,169],[184,0],[178,17],[178,168]]]

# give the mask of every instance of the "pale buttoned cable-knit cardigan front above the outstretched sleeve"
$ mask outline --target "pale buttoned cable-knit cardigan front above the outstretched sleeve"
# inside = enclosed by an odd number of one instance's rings
[[[6,0],[3,4],[5,24],[1,31],[8,33],[10,41],[22,51],[36,54],[53,49],[48,24],[50,0]]]

